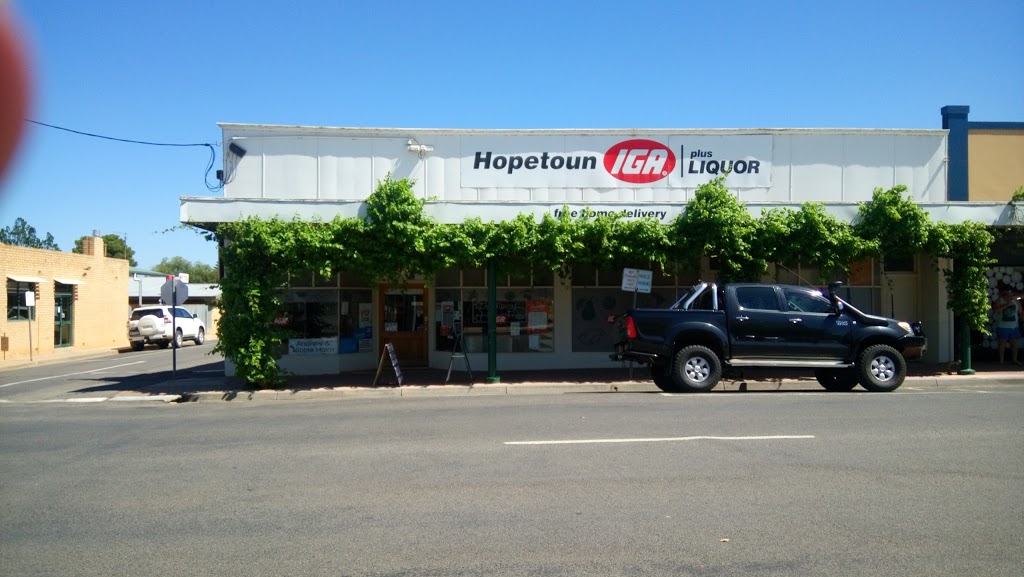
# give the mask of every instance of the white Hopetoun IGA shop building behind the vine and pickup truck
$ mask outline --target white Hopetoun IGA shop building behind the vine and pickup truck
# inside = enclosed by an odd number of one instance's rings
[[[874,189],[905,184],[933,219],[1004,223],[1005,203],[949,202],[947,130],[561,129],[467,130],[221,124],[223,197],[181,199],[181,221],[215,226],[250,216],[331,220],[366,214],[387,175],[415,181],[442,222],[616,212],[671,222],[698,186],[728,172],[750,212],[823,203],[851,221]],[[229,273],[228,273],[229,274]],[[806,271],[772,278],[813,283]],[[623,271],[503,278],[498,287],[500,369],[609,366],[611,315],[640,297],[667,304],[692,278],[654,275],[652,291],[623,291]],[[881,315],[924,322],[929,359],[953,358],[945,281],[931,260],[872,263],[848,280],[850,296]],[[402,365],[445,368],[461,328],[472,367],[486,366],[482,271],[450,271],[402,290],[345,275],[293,279],[282,324],[296,338],[281,365],[295,373],[377,366],[384,342]],[[461,362],[460,362],[461,365]],[[462,368],[459,366],[458,368]]]

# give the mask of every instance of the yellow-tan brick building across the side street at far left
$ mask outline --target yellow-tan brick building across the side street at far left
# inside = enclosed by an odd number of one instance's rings
[[[128,261],[103,256],[99,237],[82,244],[84,254],[0,244],[0,369],[126,345]]]

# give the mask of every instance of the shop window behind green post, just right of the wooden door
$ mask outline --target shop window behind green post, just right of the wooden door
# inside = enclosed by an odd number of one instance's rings
[[[449,270],[436,277],[435,351],[459,345],[468,353],[487,352],[487,288],[482,286],[482,273]],[[554,353],[554,287],[539,286],[553,279],[550,271],[498,278],[498,353]],[[450,286],[440,286],[441,282]]]

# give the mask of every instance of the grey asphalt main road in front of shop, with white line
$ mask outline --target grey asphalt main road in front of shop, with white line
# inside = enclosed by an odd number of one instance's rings
[[[6,403],[0,574],[1019,576],[1021,414],[1022,387]]]

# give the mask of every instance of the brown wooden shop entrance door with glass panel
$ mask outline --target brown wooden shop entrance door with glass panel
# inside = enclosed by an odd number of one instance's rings
[[[403,367],[427,366],[427,289],[381,285],[379,351],[390,342]]]

